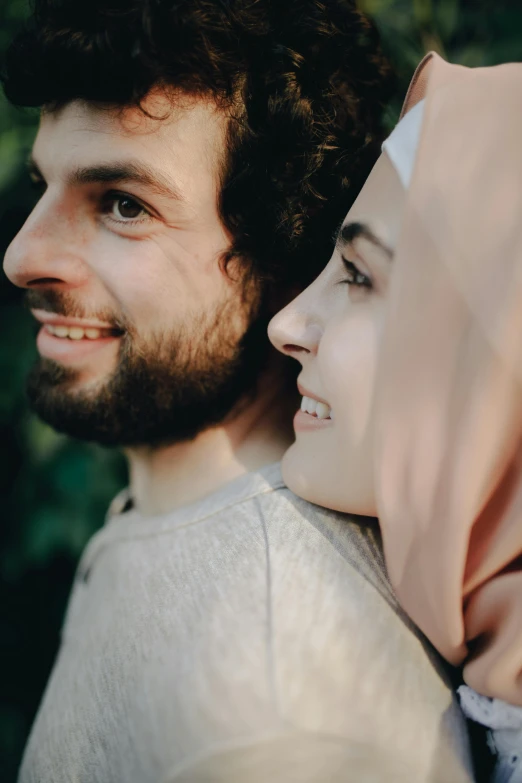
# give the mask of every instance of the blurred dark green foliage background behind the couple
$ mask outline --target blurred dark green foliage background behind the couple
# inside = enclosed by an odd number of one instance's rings
[[[83,0],[88,2],[88,0]],[[326,0],[327,1],[327,0]],[[78,0],[82,2],[82,0]],[[284,2],[284,0],[281,0]],[[422,55],[469,66],[522,60],[522,0],[361,0],[399,76],[390,126]],[[27,14],[0,0],[0,57]],[[37,112],[0,95],[0,255],[33,201],[25,160]],[[56,654],[78,557],[126,480],[120,456],[57,435],[28,410],[35,329],[0,273],[0,780],[15,780]]]

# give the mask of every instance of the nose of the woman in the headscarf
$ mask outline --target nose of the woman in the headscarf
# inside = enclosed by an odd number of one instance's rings
[[[268,325],[268,337],[278,351],[298,361],[315,355],[321,327],[307,309],[303,294],[272,318]]]

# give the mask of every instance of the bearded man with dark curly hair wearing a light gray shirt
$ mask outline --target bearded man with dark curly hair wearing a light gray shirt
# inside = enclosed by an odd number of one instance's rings
[[[357,690],[354,624],[394,599],[376,533],[281,481],[295,403],[265,337],[327,259],[385,75],[346,0],[41,0],[15,41],[6,93],[42,108],[42,195],[5,259],[41,325],[30,399],[130,466],[23,783],[432,779]],[[399,624],[437,694],[422,764],[435,743],[469,780],[448,686]]]

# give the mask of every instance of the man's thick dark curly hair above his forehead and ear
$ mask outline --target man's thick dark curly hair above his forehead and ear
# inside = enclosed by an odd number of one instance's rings
[[[225,260],[305,284],[373,164],[390,68],[354,0],[35,0],[8,51],[8,99],[141,106],[154,86],[229,114]]]

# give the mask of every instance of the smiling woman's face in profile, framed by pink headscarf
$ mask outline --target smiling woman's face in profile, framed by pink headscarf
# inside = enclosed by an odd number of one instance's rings
[[[373,391],[405,192],[386,153],[348,212],[322,274],[273,318],[272,343],[302,365],[295,443],[283,476],[297,495],[375,516]]]

